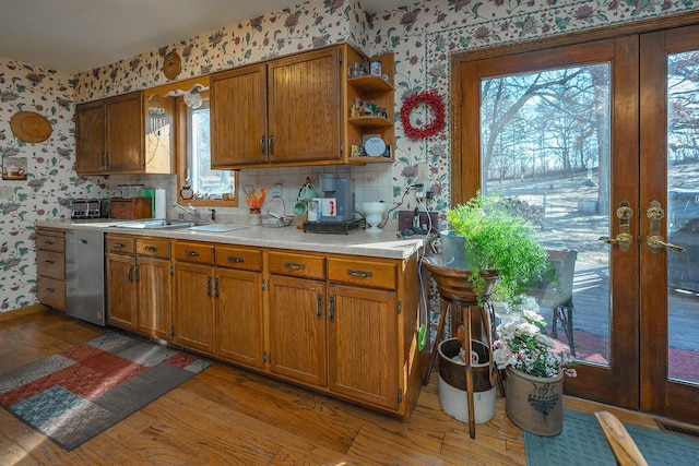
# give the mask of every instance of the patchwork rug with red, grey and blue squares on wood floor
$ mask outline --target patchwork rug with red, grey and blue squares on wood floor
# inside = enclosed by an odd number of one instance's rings
[[[71,451],[209,367],[109,333],[0,375],[0,405]]]

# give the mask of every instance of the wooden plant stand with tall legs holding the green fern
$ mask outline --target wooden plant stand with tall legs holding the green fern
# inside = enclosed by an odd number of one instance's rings
[[[476,295],[473,292],[472,283],[470,280],[471,271],[466,268],[452,268],[442,265],[441,255],[426,255],[423,258],[423,264],[427,267],[427,270],[433,274],[435,282],[437,282],[437,287],[439,288],[439,294],[441,297],[441,314],[439,315],[439,324],[437,327],[437,340],[441,338],[442,333],[445,331],[445,316],[448,311],[461,310],[463,325],[464,325],[464,334],[466,335],[466,340],[473,337],[473,328],[472,328],[472,312],[478,312],[481,314],[481,323],[482,323],[482,332],[486,334],[487,346],[488,348],[493,347],[493,326],[491,326],[491,314],[495,313],[495,308],[493,303],[489,302],[489,290],[491,286],[495,285],[497,280],[497,273],[493,272],[489,276],[486,277],[486,295],[483,297],[482,302],[484,306],[478,306],[478,300]],[[425,377],[425,384],[429,380],[431,374],[433,366],[435,365],[435,359],[438,353],[438,344],[434,345],[429,370]],[[469,434],[472,439],[476,438],[476,426],[475,426],[475,416],[474,416],[474,385],[473,385],[473,366],[471,363],[471,345],[465,345],[463,348],[466,353],[466,403],[469,407]],[[495,363],[493,362],[493,358],[489,361],[489,379],[493,382],[497,378],[497,370],[495,368]]]

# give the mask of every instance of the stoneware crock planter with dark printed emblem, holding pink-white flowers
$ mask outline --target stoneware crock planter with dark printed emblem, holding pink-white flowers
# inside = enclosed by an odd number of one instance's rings
[[[514,425],[537,435],[558,435],[564,428],[564,372],[541,378],[507,368],[505,410]]]

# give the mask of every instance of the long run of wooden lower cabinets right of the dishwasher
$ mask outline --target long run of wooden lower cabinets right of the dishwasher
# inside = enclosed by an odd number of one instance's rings
[[[145,239],[107,236],[111,324],[410,416],[429,361],[416,348],[417,255],[372,259],[174,240],[169,261],[155,255],[159,247],[146,246]]]

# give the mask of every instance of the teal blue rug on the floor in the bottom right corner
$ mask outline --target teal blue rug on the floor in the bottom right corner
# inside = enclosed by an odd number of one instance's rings
[[[624,425],[649,466],[699,464],[699,440]],[[524,432],[529,466],[615,466],[614,454],[593,415],[564,409],[564,431],[556,437]]]

